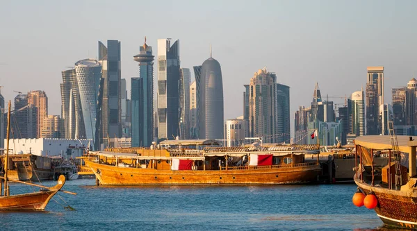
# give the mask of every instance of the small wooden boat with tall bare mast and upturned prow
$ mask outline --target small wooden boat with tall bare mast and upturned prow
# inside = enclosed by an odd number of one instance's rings
[[[45,187],[42,185],[35,185],[29,182],[23,182],[20,180],[10,180],[8,178],[8,163],[9,163],[9,135],[10,135],[10,101],[8,104],[8,125],[7,125],[7,150],[4,161],[4,175],[0,177],[0,210],[44,210],[49,200],[61,190],[65,184],[65,176],[59,176],[58,184],[54,187]],[[18,182],[24,185],[31,185],[40,187],[40,191],[26,194],[10,195],[10,187],[8,182]],[[69,191],[63,191],[70,194],[74,194]]]

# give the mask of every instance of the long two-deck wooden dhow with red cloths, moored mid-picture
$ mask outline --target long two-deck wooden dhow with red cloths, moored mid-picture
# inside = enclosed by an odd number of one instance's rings
[[[84,162],[97,185],[298,184],[317,180],[320,164],[305,162],[304,154],[318,149],[316,144],[225,148],[215,140],[169,140],[159,148],[111,148]]]

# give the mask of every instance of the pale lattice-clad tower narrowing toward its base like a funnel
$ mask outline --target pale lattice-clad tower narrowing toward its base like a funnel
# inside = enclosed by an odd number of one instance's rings
[[[85,59],[75,63],[75,74],[79,88],[81,110],[85,126],[85,139],[95,140],[97,95],[101,78],[101,64],[97,60]],[[76,137],[81,138],[81,137]]]

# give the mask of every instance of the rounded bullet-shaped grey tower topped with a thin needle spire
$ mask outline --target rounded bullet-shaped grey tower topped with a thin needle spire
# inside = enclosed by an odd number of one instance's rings
[[[224,138],[223,80],[220,63],[212,58],[203,62],[199,84],[199,139]]]

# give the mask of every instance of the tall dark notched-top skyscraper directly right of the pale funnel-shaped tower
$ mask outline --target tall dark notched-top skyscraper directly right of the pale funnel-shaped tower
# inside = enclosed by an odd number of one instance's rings
[[[120,92],[120,42],[107,40],[107,47],[99,42],[99,62],[104,78],[101,100],[101,141],[103,137],[122,136],[122,110]]]

